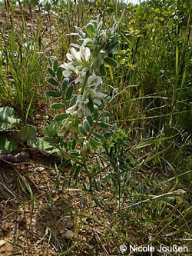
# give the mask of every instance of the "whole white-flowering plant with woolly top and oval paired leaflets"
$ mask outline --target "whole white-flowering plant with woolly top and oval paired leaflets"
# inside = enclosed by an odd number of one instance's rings
[[[49,138],[65,158],[64,163],[71,162],[71,175],[77,177],[83,167],[91,178],[88,162],[95,152],[101,151],[104,138],[110,137],[110,132],[115,130],[115,125],[109,124],[106,111],[112,98],[102,91],[102,84],[107,75],[106,65],[118,66],[111,58],[118,45],[117,24],[104,29],[98,18],[84,28],[76,29],[77,33],[70,35],[78,36],[78,44],[71,44],[66,54],[67,62],[58,65],[57,59],[53,62],[49,59],[51,76],[46,81],[53,88],[45,91],[45,95],[57,99],[51,104],[52,109],[62,110],[55,116],[61,127],[55,134],[56,126],[52,126]]]

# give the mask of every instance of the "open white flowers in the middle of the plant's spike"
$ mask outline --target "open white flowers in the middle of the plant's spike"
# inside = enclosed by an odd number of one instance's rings
[[[75,48],[70,49],[71,53],[67,53],[68,63],[61,65],[64,68],[62,72],[65,78],[76,75],[74,79],[75,84],[80,84],[80,95],[74,105],[66,110],[67,114],[71,116],[78,116],[78,118],[91,115],[91,109],[88,104],[92,101],[93,104],[100,106],[101,100],[107,95],[98,91],[99,85],[102,84],[101,76],[95,75],[91,71],[91,51],[88,47],[81,45],[79,51]]]

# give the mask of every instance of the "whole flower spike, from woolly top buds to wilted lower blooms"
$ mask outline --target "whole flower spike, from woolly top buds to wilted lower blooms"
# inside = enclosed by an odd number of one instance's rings
[[[101,92],[102,78],[106,75],[104,64],[117,66],[117,62],[108,55],[114,51],[118,45],[118,35],[116,25],[113,28],[103,29],[103,22],[91,21],[84,28],[77,28],[79,36],[78,44],[71,44],[69,52],[66,54],[67,62],[61,65],[62,76],[65,81],[70,81],[70,85],[78,88],[78,93],[70,101],[65,113],[68,118],[63,121],[63,126],[58,132],[59,136],[65,139],[68,135],[78,138],[78,122],[80,119],[93,115],[94,109],[102,105],[102,101],[107,97]],[[69,100],[69,99],[68,99]],[[82,154],[88,151],[88,143],[84,142],[86,150],[82,149]]]

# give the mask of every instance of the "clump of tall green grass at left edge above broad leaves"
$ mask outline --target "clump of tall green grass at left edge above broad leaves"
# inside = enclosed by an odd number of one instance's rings
[[[15,20],[14,6],[11,12],[10,33],[8,19],[1,30],[1,104],[18,108],[27,120],[29,113],[38,108],[36,104],[41,98],[41,87],[45,84],[43,74],[46,58],[38,54],[42,50],[39,45],[42,28],[38,23],[36,34],[29,34],[24,12],[20,12],[21,24]]]

